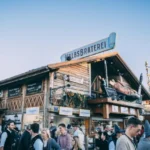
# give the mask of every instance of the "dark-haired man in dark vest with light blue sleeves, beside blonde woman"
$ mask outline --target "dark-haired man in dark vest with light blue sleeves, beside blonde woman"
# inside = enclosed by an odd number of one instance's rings
[[[39,124],[33,123],[31,125],[32,139],[30,141],[29,150],[43,150],[43,141],[39,135]]]

